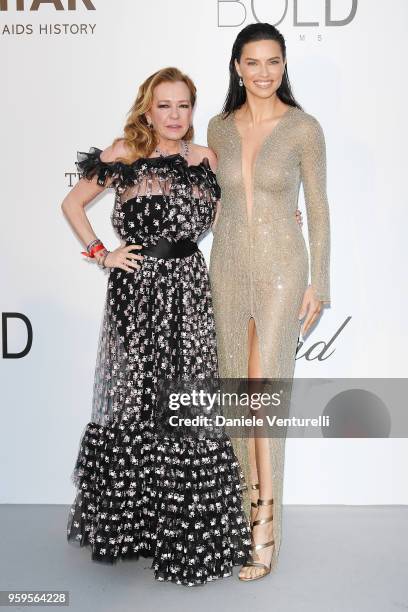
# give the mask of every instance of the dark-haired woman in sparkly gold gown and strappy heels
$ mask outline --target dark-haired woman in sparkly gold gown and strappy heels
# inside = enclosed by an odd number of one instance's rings
[[[325,141],[318,120],[291,92],[283,36],[252,24],[234,43],[223,112],[208,144],[218,158],[220,209],[210,279],[223,378],[291,379],[301,320],[317,321],[329,291]],[[295,210],[303,182],[309,258]],[[281,543],[285,438],[233,439],[245,474],[253,546],[239,577],[276,566]]]

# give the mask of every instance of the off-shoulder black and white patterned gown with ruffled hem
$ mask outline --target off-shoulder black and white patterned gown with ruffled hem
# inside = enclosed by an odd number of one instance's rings
[[[210,228],[220,190],[206,158],[194,166],[180,154],[124,164],[100,153],[78,152],[76,165],[100,185],[110,179],[111,220],[126,244],[197,241]],[[145,255],[139,263],[109,271],[67,538],[90,545],[93,560],[153,557],[156,579],[192,586],[230,576],[248,555],[243,475],[226,435],[174,439],[155,425],[160,379],[217,375],[203,254]]]

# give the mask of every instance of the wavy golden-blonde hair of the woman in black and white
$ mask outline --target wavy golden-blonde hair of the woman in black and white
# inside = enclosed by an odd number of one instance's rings
[[[115,138],[112,143],[112,145],[114,145],[120,140],[124,140],[127,148],[131,151],[130,157],[132,159],[119,157],[117,161],[132,163],[140,157],[150,157],[159,142],[155,130],[149,128],[146,119],[146,112],[148,112],[153,105],[154,89],[161,83],[175,83],[178,81],[182,81],[187,85],[190,91],[191,106],[194,108],[197,98],[197,89],[187,74],[184,74],[178,68],[169,67],[162,68],[150,75],[140,85],[137,98],[128,112],[128,118],[123,128],[124,136]],[[190,126],[184,135],[184,140],[192,140],[193,136],[194,128]]]

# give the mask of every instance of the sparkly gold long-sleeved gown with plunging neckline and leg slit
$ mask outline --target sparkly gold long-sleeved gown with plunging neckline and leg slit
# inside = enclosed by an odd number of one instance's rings
[[[326,149],[317,119],[289,107],[263,141],[253,171],[253,204],[248,221],[242,178],[241,135],[230,114],[210,120],[208,146],[218,157],[220,212],[213,229],[210,280],[222,378],[248,376],[248,322],[259,339],[263,378],[292,379],[308,286],[309,256],[296,220],[300,183],[307,212],[311,284],[330,302],[330,226],[326,195]],[[244,504],[250,514],[248,438],[233,437],[245,477]],[[273,473],[272,568],[281,544],[285,438],[270,437]],[[244,483],[245,486],[245,483]]]

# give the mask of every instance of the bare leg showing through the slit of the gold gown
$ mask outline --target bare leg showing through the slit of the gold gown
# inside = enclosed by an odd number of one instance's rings
[[[259,354],[259,340],[257,329],[255,325],[255,321],[253,318],[249,320],[248,327],[248,340],[249,340],[249,357],[248,357],[248,378],[262,378],[262,370],[261,370],[261,362],[260,362],[260,354]],[[259,387],[261,386],[258,385]],[[251,390],[250,392],[254,392],[257,390],[256,381],[251,382]],[[261,390],[261,389],[259,389]],[[271,460],[269,455],[269,440],[268,438],[260,438],[256,437],[249,440],[249,459],[250,459],[250,467],[251,467],[251,475],[254,477],[258,475],[259,481],[259,497],[262,499],[271,499],[273,498],[272,492],[272,467]],[[255,453],[251,452],[251,447],[255,450]],[[255,455],[255,457],[254,457]],[[255,465],[253,465],[252,461],[255,459]],[[253,482],[258,482],[253,480]],[[251,491],[251,499],[252,493],[257,493],[256,491]],[[259,506],[256,512],[256,519],[267,518],[273,512],[272,506]],[[253,544],[261,544],[263,542],[269,542],[273,539],[273,522],[270,521],[263,525],[256,525],[252,529],[252,540]],[[269,565],[273,553],[273,546],[269,546],[268,548],[261,549],[254,553],[254,560],[260,561],[261,563],[265,563]],[[263,570],[259,567],[251,567],[251,566],[243,566],[239,572],[239,576],[243,578],[254,578],[255,576],[263,573]]]

